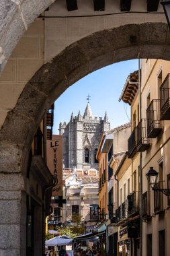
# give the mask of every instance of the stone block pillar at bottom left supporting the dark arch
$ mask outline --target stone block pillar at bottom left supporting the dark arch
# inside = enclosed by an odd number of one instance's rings
[[[26,255],[26,193],[22,174],[0,173],[0,255]]]

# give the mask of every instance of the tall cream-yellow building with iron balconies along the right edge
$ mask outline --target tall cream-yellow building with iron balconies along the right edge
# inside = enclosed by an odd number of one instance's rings
[[[136,242],[136,249],[132,247],[139,234],[133,232],[130,237],[127,228],[124,242],[129,240],[130,245],[125,247],[124,243],[124,251],[121,248],[118,255],[126,255],[130,247],[134,256],[169,255],[169,69],[168,61],[143,59],[138,91],[127,83],[122,92],[122,100],[131,105],[132,123],[127,152],[131,164],[125,173],[131,169],[134,196],[130,195],[132,201],[127,197],[126,209],[132,207],[134,215],[126,216],[126,224],[133,226],[140,218],[140,246]],[[152,168],[158,175],[153,189],[146,179]],[[121,179],[128,183],[126,174]],[[120,217],[115,225],[120,226]]]

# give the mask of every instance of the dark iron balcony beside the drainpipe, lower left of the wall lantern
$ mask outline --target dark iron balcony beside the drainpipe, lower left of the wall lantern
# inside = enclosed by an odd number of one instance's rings
[[[146,191],[142,194],[142,220],[149,219],[151,219],[150,192]]]

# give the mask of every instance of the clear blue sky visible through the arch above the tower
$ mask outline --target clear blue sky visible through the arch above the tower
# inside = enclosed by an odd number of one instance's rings
[[[95,117],[108,113],[111,129],[130,121],[130,106],[118,102],[127,76],[138,69],[138,60],[123,61],[103,67],[68,88],[55,102],[53,134],[58,134],[59,123],[70,121],[71,112],[81,115],[87,106],[87,95]]]

